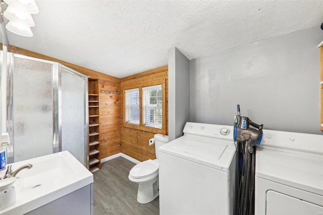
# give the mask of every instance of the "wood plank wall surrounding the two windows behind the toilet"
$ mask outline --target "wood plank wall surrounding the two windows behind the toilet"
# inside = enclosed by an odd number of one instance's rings
[[[159,67],[136,75],[121,79],[120,89],[120,125],[121,125],[121,152],[131,156],[140,162],[147,159],[155,159],[155,146],[149,146],[148,141],[155,133],[137,130],[123,126],[124,120],[124,95],[123,89],[127,86],[135,86],[143,81],[166,79],[166,135],[168,135],[168,66]]]

